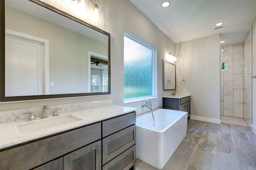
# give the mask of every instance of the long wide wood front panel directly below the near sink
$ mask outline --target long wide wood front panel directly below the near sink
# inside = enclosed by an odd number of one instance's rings
[[[101,139],[101,123],[0,152],[0,169],[27,170]]]

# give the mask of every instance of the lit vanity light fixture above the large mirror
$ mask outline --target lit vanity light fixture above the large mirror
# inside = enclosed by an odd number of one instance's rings
[[[97,4],[94,4],[91,0],[89,0],[93,5],[94,5],[94,14],[92,16],[92,18],[94,18],[94,20],[98,19],[99,17],[99,11],[98,11],[98,5]],[[71,5],[72,2],[76,2],[78,5],[79,5],[79,10],[83,13],[86,13],[87,12],[87,6],[86,6],[86,0],[62,0],[62,2],[64,4],[67,4],[67,5]]]

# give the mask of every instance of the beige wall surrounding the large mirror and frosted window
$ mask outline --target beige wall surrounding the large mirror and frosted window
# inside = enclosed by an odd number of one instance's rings
[[[113,99],[113,103],[123,102],[123,56],[124,56],[124,28],[157,48],[157,96],[162,96],[162,59],[168,53],[175,52],[175,43],[168,38],[156,25],[142,14],[128,0],[98,0],[99,20],[92,20],[93,6],[90,6],[86,15],[79,14],[74,6],[68,6],[62,0],[45,0],[48,4],[84,20],[111,35],[111,95],[91,96],[82,98],[66,98],[56,100],[39,100],[30,102],[12,102],[0,104],[0,111],[40,107],[43,105],[69,104],[93,100]]]

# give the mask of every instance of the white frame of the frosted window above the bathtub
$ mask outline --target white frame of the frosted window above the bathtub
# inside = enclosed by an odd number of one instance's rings
[[[136,43],[139,43],[140,45],[143,45],[144,47],[147,47],[153,51],[152,53],[152,96],[144,96],[144,97],[138,97],[138,98],[129,98],[129,99],[124,99],[124,102],[130,102],[134,100],[144,100],[148,98],[154,98],[157,96],[156,94],[156,54],[157,54],[157,49],[150,43],[146,42],[145,40],[141,39],[140,37],[134,35],[127,29],[124,29],[124,37],[127,37],[131,39],[132,41],[135,41]]]

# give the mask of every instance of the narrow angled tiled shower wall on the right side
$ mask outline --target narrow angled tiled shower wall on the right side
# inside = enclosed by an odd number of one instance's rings
[[[252,124],[252,29],[244,41],[244,120]]]

